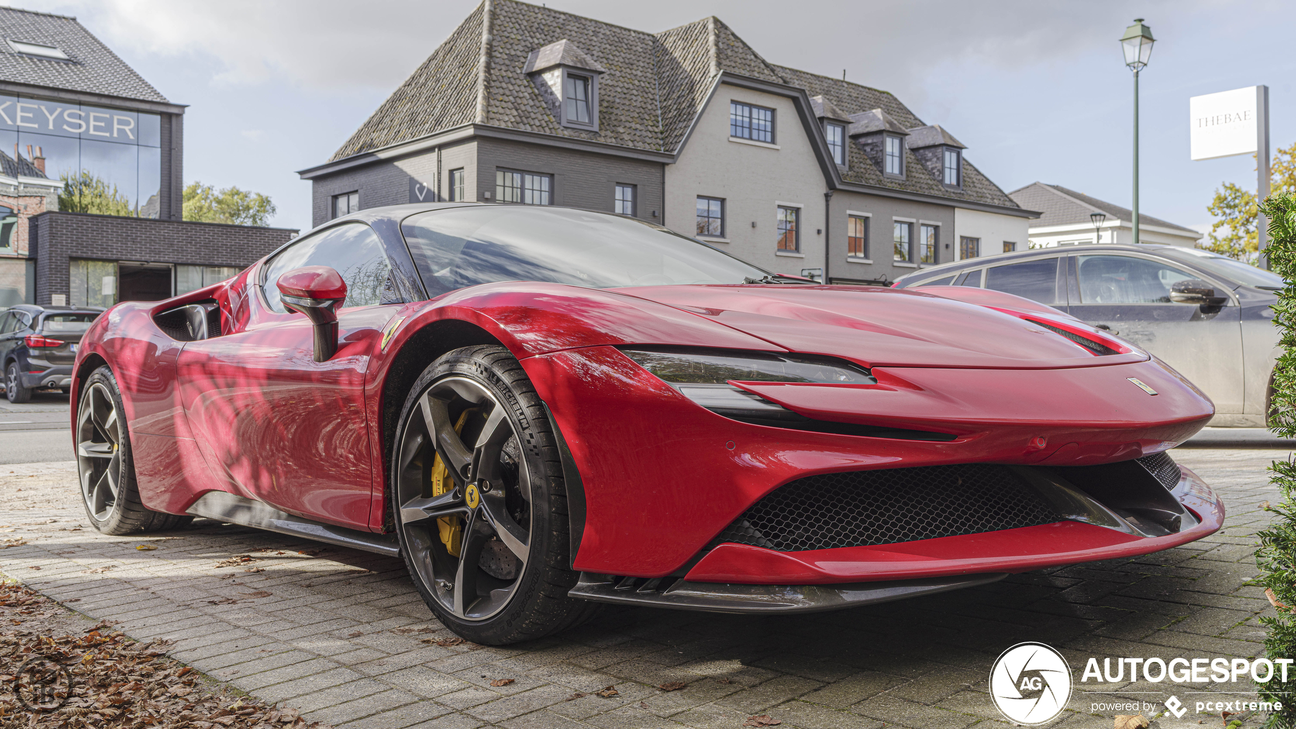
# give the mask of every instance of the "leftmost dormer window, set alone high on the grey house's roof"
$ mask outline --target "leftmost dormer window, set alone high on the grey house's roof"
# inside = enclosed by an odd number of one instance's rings
[[[560,126],[599,131],[599,76],[607,69],[574,43],[560,40],[533,50],[522,73]]]

